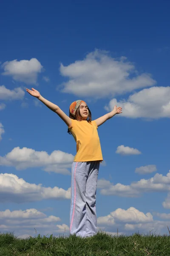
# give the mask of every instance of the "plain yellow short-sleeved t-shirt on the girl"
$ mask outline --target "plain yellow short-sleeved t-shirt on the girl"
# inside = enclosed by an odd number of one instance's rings
[[[95,121],[77,121],[71,119],[68,127],[77,143],[77,154],[74,162],[88,162],[103,160],[97,125]]]

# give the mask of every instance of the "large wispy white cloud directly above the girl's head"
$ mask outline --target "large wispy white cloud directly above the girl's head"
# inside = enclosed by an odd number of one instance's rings
[[[111,58],[108,52],[100,50],[68,66],[61,64],[60,73],[69,78],[63,84],[62,92],[95,98],[114,96],[156,83],[147,73],[137,74],[134,65],[125,57]]]

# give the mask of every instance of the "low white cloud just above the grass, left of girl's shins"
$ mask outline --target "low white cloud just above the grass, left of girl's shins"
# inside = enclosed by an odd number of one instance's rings
[[[51,233],[53,235],[68,233],[69,231],[66,224],[57,224],[61,222],[59,217],[54,215],[47,216],[37,209],[26,209],[24,211],[6,209],[0,212],[0,222],[3,223],[3,225],[0,225],[1,231],[14,231],[14,235],[20,238],[35,236],[35,230],[37,234],[40,233],[45,236]]]

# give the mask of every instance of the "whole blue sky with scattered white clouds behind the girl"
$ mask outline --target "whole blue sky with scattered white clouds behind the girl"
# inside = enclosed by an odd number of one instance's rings
[[[167,233],[170,225],[169,1],[8,1],[0,17],[0,230],[68,232],[76,145],[34,87],[99,127],[98,229]]]

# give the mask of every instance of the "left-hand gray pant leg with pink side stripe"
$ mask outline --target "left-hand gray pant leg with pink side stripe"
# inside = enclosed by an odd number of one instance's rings
[[[86,234],[85,186],[88,177],[87,163],[74,162],[71,170],[70,233]]]

